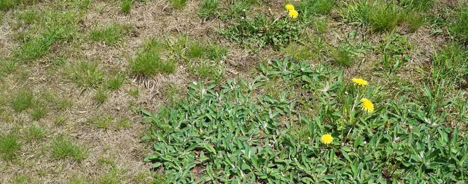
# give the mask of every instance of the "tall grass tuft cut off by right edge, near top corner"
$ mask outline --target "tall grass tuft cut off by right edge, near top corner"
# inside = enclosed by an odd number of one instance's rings
[[[463,5],[457,12],[457,19],[448,26],[455,39],[468,41],[468,5]]]

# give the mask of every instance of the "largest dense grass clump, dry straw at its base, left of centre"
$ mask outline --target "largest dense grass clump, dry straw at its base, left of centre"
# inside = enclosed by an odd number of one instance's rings
[[[136,53],[136,57],[130,61],[133,72],[144,76],[173,73],[176,67],[175,59],[162,59],[160,52],[163,49],[163,43],[157,39],[153,38],[146,41]]]

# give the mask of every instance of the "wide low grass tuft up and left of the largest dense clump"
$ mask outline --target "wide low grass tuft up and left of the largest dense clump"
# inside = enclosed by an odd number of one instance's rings
[[[91,30],[91,39],[97,42],[102,41],[106,45],[116,45],[123,40],[129,29],[129,26],[122,26],[118,24],[97,27]]]

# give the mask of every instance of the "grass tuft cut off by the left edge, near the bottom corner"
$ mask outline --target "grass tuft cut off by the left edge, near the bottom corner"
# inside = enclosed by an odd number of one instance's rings
[[[21,148],[18,136],[14,133],[0,135],[0,158],[12,160]]]

